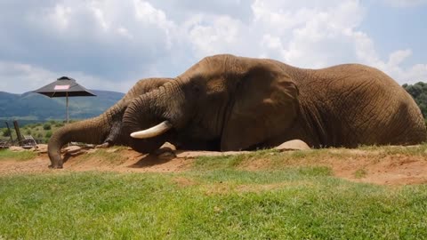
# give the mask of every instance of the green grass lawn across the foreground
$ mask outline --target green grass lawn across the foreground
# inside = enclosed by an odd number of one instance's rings
[[[425,155],[424,150],[407,151]],[[319,150],[291,156],[295,160],[323,154]],[[278,157],[271,151],[202,157],[189,171],[174,173],[3,176],[0,239],[427,237],[427,185],[354,183],[335,178],[324,166],[268,171],[237,167],[266,156],[273,161]]]

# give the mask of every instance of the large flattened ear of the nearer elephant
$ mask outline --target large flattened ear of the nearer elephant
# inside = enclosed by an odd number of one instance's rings
[[[261,64],[240,79],[222,131],[221,149],[256,147],[285,132],[297,115],[298,88],[281,69]]]

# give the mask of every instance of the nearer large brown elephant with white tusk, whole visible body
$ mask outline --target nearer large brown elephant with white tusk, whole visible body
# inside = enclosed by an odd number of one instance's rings
[[[129,145],[182,149],[412,145],[427,139],[420,109],[390,76],[361,64],[295,68],[278,60],[214,55],[133,99]]]

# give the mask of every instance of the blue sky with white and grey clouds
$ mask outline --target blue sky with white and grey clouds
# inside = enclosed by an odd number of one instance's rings
[[[361,63],[427,82],[427,0],[0,0],[0,92],[60,76],[127,92],[205,56]]]

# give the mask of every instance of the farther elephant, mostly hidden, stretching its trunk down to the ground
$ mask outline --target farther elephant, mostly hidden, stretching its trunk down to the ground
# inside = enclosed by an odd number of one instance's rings
[[[133,88],[121,100],[100,116],[61,127],[52,134],[48,142],[50,167],[62,168],[63,160],[60,157],[60,148],[71,141],[96,144],[101,148],[107,148],[112,145],[127,146],[130,136],[123,132],[122,118],[129,103],[141,94],[157,89],[172,80],[172,78],[141,79],[133,85]]]

